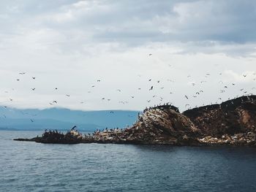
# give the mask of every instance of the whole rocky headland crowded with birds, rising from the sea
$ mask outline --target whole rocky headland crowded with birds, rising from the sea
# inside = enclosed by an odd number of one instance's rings
[[[144,110],[129,128],[106,128],[83,135],[73,127],[67,134],[45,130],[42,137],[15,140],[59,144],[256,146],[256,96],[241,96],[182,113],[177,107],[163,104]]]

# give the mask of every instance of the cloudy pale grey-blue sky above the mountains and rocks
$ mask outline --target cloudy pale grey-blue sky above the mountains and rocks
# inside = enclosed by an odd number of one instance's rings
[[[256,94],[255,1],[1,0],[0,26],[2,106],[184,111]]]

